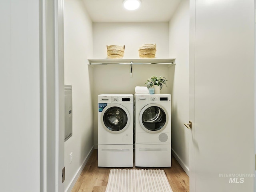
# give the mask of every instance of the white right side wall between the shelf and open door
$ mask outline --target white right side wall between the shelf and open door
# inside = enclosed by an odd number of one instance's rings
[[[189,1],[182,0],[170,20],[169,56],[176,58],[172,87],[172,151],[188,174],[189,130],[188,123],[188,60],[189,60]]]

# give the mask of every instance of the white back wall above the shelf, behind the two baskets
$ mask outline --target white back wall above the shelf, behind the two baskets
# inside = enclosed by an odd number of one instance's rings
[[[156,58],[168,57],[168,22],[93,24],[93,57],[107,58],[106,45],[125,45],[124,58],[139,58],[142,44],[156,44]]]

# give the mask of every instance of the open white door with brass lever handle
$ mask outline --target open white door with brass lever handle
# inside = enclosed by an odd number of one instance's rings
[[[252,192],[254,0],[190,1],[190,192]]]

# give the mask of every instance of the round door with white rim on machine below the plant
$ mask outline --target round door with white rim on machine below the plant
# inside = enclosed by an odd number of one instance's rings
[[[164,130],[168,122],[166,109],[159,104],[148,104],[140,111],[140,126],[149,133]]]

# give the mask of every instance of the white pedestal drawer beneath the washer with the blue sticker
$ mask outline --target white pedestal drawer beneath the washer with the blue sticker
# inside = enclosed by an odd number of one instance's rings
[[[98,167],[133,167],[133,144],[98,144]]]

